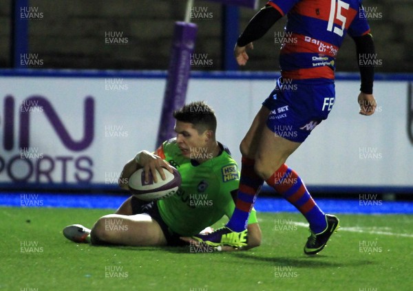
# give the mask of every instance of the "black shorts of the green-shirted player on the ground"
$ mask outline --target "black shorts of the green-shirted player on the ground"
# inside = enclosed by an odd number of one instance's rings
[[[175,233],[169,226],[163,221],[162,217],[159,213],[158,204],[156,202],[146,202],[139,200],[135,196],[131,198],[131,206],[132,206],[132,213],[136,214],[146,214],[152,217],[156,222],[158,222],[160,228],[162,229],[162,233],[165,235],[167,239],[168,246],[185,246],[187,243],[182,241],[180,237],[182,235]]]

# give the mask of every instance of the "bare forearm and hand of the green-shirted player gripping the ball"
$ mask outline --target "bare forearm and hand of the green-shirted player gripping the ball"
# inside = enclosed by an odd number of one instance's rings
[[[149,151],[140,151],[136,154],[135,158],[127,162],[123,167],[122,173],[120,173],[118,184],[120,188],[125,190],[130,190],[127,184],[129,177],[138,169],[144,168],[145,169],[145,181],[149,181],[149,171],[151,173],[155,173],[158,171],[162,180],[165,180],[165,173],[163,172],[162,168],[167,169],[167,171],[172,173],[172,169],[169,166],[168,162],[162,160],[159,155],[155,153],[151,153]],[[156,175],[152,175],[153,181],[158,182]]]

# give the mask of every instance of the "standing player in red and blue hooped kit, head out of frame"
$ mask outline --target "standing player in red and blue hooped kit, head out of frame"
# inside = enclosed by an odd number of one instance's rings
[[[339,219],[321,211],[301,177],[285,162],[334,105],[335,57],[344,36],[349,34],[354,40],[358,61],[374,56],[374,43],[361,0],[271,0],[237,40],[235,58],[239,65],[246,65],[252,42],[284,14],[287,24],[279,52],[281,77],[240,145],[242,170],[235,212],[224,228],[194,238],[218,246],[223,244],[222,237],[242,232],[266,181],[308,220],[310,237],[304,252],[313,255],[326,246],[339,227]],[[368,65],[359,65],[359,69],[359,113],[369,116],[376,107],[374,69]]]

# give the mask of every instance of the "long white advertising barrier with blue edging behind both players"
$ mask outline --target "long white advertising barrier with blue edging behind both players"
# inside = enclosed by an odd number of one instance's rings
[[[278,76],[191,73],[187,102],[215,109],[218,140],[237,162]],[[413,75],[376,79],[377,112],[366,117],[358,114],[359,75],[337,74],[328,120],[288,160],[308,188],[413,193]],[[165,80],[165,72],[0,70],[0,186],[116,189],[123,164],[156,147]]]

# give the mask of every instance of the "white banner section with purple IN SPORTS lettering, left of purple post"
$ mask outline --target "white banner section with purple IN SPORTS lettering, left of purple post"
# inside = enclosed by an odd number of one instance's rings
[[[0,182],[116,184],[153,150],[165,80],[1,78]]]

